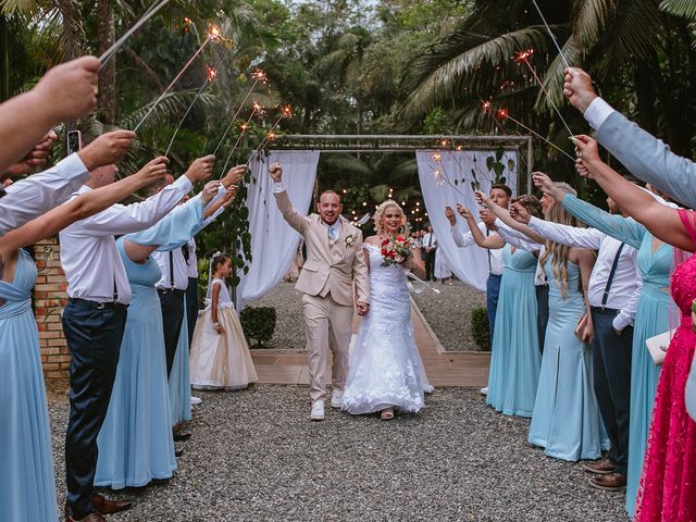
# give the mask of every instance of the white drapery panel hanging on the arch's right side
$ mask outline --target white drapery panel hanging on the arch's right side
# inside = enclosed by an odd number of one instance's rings
[[[495,157],[495,151],[437,151],[439,160],[434,157],[434,153],[433,150],[419,150],[415,158],[425,209],[437,236],[436,256],[445,257],[451,271],[460,281],[480,290],[485,290],[488,278],[488,253],[475,245],[468,248],[459,248],[455,245],[449,222],[445,217],[445,207],[457,209],[457,203],[461,203],[477,216],[478,206],[471,186],[471,182],[474,181],[473,173],[481,184],[481,190],[488,192],[495,173],[488,171],[486,161],[487,158]],[[509,170],[508,161],[513,162],[512,170]],[[506,184],[514,195],[518,188],[518,154],[513,151],[506,151],[501,163],[506,167],[502,176],[507,178]],[[436,170],[443,177],[442,181],[436,179]],[[450,184],[457,188],[455,189]],[[459,214],[457,214],[457,226],[463,233],[469,232],[467,222]]]

